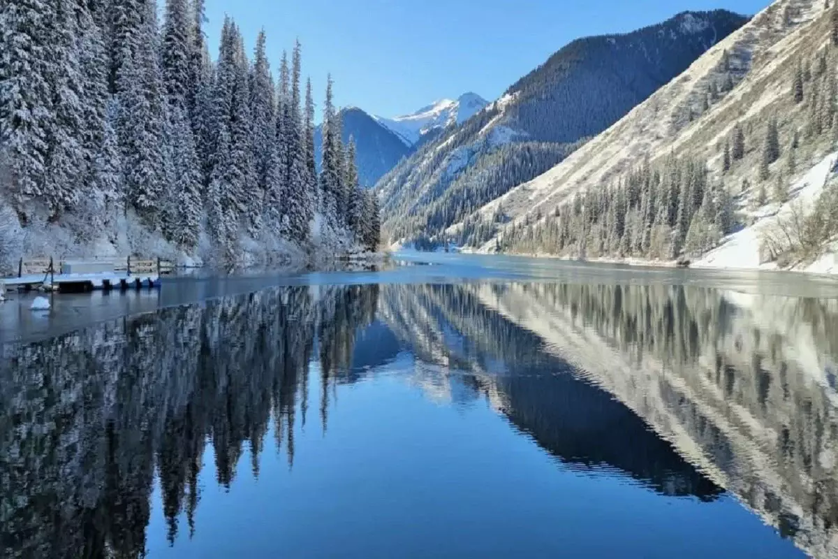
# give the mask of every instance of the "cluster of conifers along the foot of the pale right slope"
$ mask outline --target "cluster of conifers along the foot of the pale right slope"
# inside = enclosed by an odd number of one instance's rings
[[[497,216],[502,219],[502,210]],[[706,162],[670,156],[656,166],[646,161],[603,188],[577,193],[551,215],[510,225],[496,248],[671,260],[711,249],[733,224],[730,194],[708,179]]]

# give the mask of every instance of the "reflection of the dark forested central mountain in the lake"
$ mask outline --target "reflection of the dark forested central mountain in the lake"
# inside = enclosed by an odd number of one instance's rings
[[[720,489],[607,392],[569,373],[541,340],[486,308],[467,287],[389,286],[379,317],[416,355],[410,381],[434,400],[484,394],[571,468],[628,474],[662,494],[712,499]]]

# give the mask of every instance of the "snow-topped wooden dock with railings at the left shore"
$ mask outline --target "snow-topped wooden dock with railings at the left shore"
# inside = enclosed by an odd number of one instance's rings
[[[160,258],[78,259],[60,261],[57,265],[53,258],[22,258],[17,277],[0,278],[0,292],[4,289],[57,292],[154,289],[160,287],[160,277],[173,269],[170,262]]]

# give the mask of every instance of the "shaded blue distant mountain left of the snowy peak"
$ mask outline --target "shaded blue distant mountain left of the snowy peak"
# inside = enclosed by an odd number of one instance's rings
[[[399,163],[401,158],[411,152],[411,148],[402,142],[401,137],[382,126],[378,120],[365,111],[352,106],[340,111],[340,116],[344,124],[344,145],[349,142],[350,136],[355,140],[355,162],[358,165],[361,186],[374,185],[396,163]],[[322,158],[320,149],[322,142],[323,135],[320,127],[317,127],[314,132],[314,153],[318,170],[320,158]]]

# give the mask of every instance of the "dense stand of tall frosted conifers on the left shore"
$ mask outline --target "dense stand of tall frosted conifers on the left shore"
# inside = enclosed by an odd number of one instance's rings
[[[302,49],[275,82],[204,0],[0,5],[0,261],[144,253],[254,261],[377,245],[377,208],[323,106],[323,173]],[[305,97],[303,98],[303,95]]]

